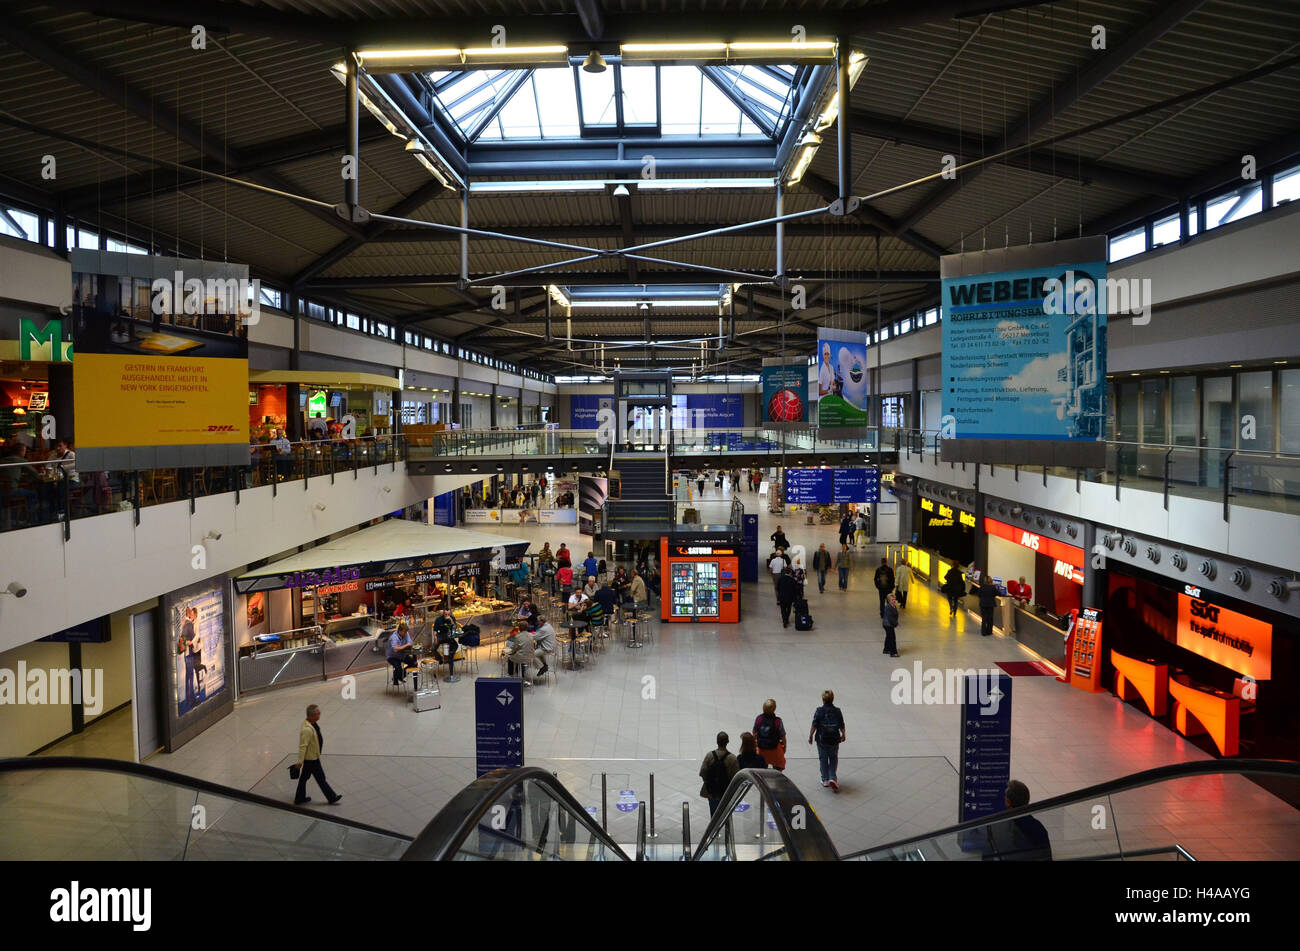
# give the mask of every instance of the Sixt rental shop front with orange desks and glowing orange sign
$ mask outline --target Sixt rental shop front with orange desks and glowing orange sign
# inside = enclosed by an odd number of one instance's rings
[[[1106,572],[1101,683],[1222,756],[1300,752],[1300,621],[1131,565]]]

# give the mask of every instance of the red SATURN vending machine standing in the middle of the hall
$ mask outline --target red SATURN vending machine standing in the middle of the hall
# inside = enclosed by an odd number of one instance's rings
[[[662,538],[660,617],[740,622],[740,548],[732,542]]]

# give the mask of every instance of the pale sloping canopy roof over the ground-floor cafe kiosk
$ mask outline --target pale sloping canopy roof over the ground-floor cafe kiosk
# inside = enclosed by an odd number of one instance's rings
[[[416,573],[415,581],[442,581],[443,569],[456,565],[514,568],[528,546],[523,538],[390,518],[246,572],[235,578],[235,590],[312,587],[408,572]]]

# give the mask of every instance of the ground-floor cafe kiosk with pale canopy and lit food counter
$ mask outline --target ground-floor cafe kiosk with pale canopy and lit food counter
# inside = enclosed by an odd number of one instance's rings
[[[514,620],[528,542],[391,518],[235,579],[240,695],[384,666],[403,621],[429,644],[450,608],[485,643]]]

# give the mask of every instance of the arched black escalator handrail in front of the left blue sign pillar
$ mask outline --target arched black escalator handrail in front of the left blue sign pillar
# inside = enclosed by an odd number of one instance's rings
[[[586,809],[573,798],[564,785],[541,767],[519,767],[516,769],[494,769],[474,780],[460,790],[451,802],[443,805],[438,815],[420,830],[411,846],[402,854],[402,861],[451,861],[469,838],[488,809],[514,786],[533,780],[546,789],[562,805],[568,807],[576,821],[592,834],[592,838],[612,851],[623,861],[632,861],[610,835],[588,815]]]

